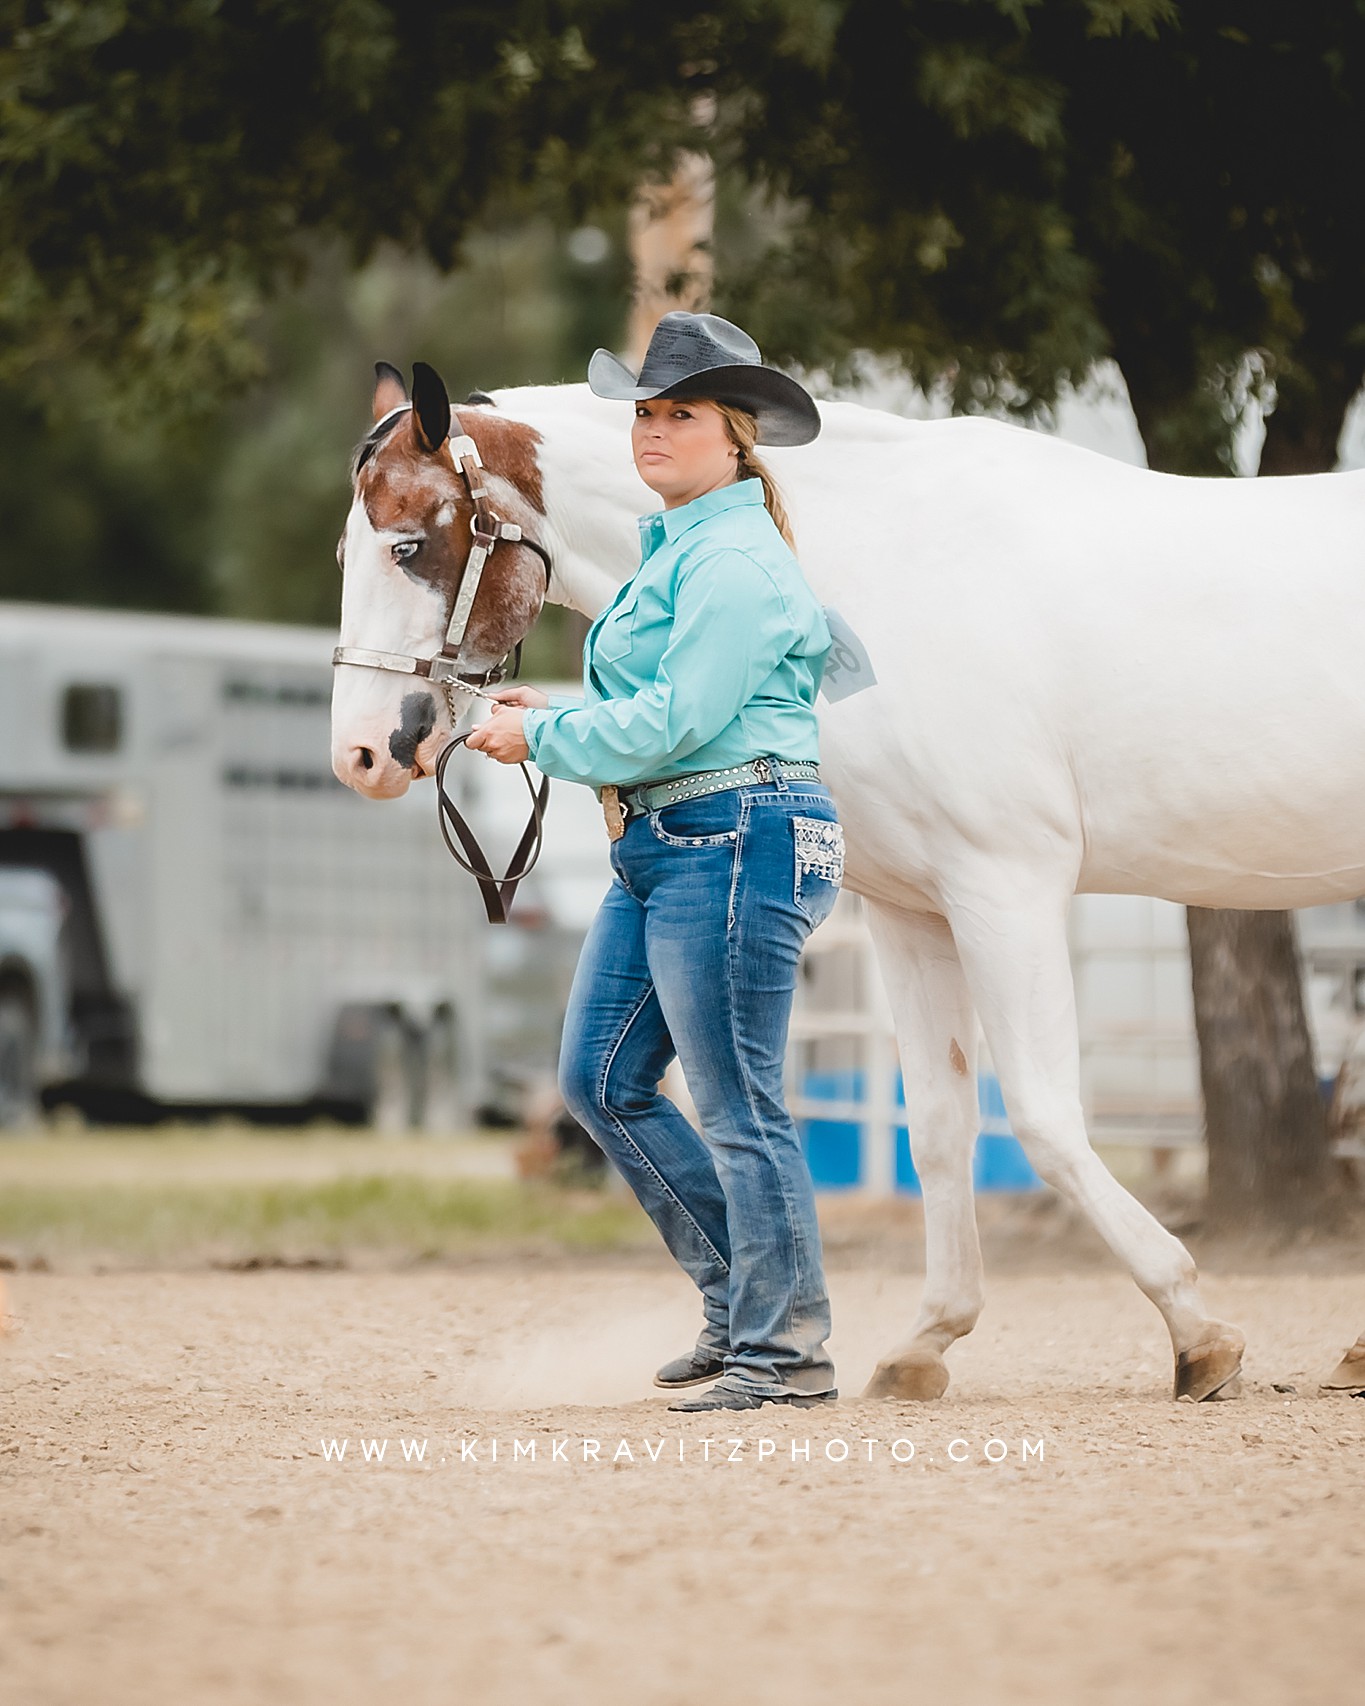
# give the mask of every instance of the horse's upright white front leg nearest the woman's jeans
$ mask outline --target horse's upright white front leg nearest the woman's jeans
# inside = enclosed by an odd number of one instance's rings
[[[865,1397],[942,1397],[944,1351],[981,1314],[981,1247],[971,1192],[976,1013],[952,945],[930,913],[868,902],[872,940],[896,1018],[915,1170],[925,1196],[925,1290],[909,1339],[886,1356]]]

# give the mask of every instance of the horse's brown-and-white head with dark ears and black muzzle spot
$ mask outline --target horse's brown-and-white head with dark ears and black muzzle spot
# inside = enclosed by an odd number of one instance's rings
[[[415,776],[432,773],[454,732],[444,686],[399,672],[398,660],[440,657],[474,544],[476,496],[486,488],[486,508],[532,541],[544,534],[544,500],[539,437],[531,426],[490,408],[466,409],[456,432],[474,440],[483,469],[461,456],[461,471],[440,377],[418,362],[410,401],[396,368],[379,363],[375,372],[374,428],[355,457],[351,512],[336,548],[341,648],[386,653],[392,662],[338,664],[331,761],[357,793],[392,800]],[[478,681],[495,669],[539,616],[544,594],[541,556],[515,539],[498,539],[459,643],[461,674]]]

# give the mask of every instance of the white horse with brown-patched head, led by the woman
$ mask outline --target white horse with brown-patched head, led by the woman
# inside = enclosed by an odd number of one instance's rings
[[[430,368],[411,399],[380,372],[340,546],[343,648],[439,653],[471,473],[549,575],[498,548],[462,641],[469,679],[544,597],[592,616],[635,572],[635,522],[657,498],[621,406],[585,386],[479,397],[452,415]],[[771,464],[802,568],[875,672],[821,703],[821,757],[891,998],[925,1211],[918,1314],[865,1396],[940,1397],[945,1351],[983,1307],[978,1018],[1032,1165],[1165,1320],[1176,1397],[1234,1396],[1242,1332],[1208,1314],[1189,1252],[1090,1148],[1066,911],[1083,891],[1232,908],[1365,892],[1365,473],[1193,479],[993,420],[857,403],[821,416],[812,445]],[[481,471],[461,471],[450,432]],[[459,693],[341,664],[336,775],[403,793],[450,740]],[[1365,1387],[1365,1338],[1327,1384]]]

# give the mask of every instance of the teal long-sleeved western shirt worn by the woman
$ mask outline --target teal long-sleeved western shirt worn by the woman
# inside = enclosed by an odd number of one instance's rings
[[[819,756],[829,628],[763,485],[739,479],[640,520],[640,568],[584,641],[582,705],[526,711],[563,781],[655,781]]]

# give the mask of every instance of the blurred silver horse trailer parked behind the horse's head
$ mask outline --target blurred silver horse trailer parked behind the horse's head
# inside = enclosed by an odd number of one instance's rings
[[[333,778],[333,643],[0,606],[0,1117],[442,1128],[483,1100],[478,892],[430,788]]]

